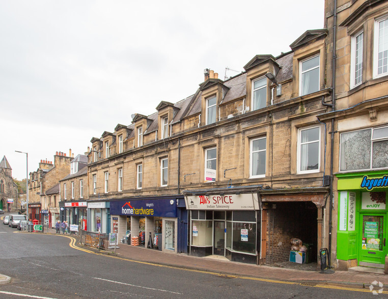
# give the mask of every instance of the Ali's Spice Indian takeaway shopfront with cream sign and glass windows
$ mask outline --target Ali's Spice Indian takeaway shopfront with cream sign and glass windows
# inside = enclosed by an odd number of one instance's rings
[[[186,196],[185,201],[190,211],[190,255],[258,263],[261,210],[257,193]]]

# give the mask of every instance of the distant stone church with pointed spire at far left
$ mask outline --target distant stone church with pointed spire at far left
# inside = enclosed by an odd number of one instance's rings
[[[11,165],[4,156],[0,161],[0,209],[15,212],[18,208],[20,208],[20,204],[17,185],[12,178]]]

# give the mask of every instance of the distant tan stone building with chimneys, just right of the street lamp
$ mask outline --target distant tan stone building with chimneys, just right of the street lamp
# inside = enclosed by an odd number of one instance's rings
[[[71,149],[69,156],[65,153],[56,152],[54,163],[41,160],[36,171],[30,172],[29,180],[29,219],[42,220],[42,202],[48,207],[46,191],[58,184],[61,178],[70,173],[70,161],[73,159]],[[47,213],[43,213],[47,214]]]

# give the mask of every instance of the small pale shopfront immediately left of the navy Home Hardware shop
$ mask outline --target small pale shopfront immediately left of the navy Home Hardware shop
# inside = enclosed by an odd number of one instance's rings
[[[88,231],[109,233],[109,201],[88,202],[87,223]]]

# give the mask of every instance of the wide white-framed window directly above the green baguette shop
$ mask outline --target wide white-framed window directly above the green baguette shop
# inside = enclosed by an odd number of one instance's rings
[[[388,167],[388,127],[341,134],[340,170],[369,170]]]

